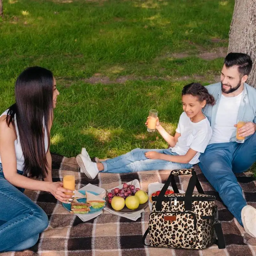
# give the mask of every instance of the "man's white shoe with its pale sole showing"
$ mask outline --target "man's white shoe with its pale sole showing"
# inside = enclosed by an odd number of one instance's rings
[[[241,211],[241,218],[246,233],[256,238],[256,209],[251,205],[245,205]]]

